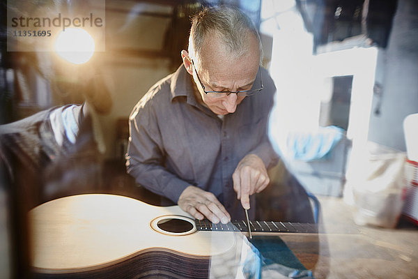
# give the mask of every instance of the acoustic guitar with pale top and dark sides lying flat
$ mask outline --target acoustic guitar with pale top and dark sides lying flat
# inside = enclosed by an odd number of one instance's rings
[[[29,211],[29,220],[36,278],[208,278],[231,272],[248,246],[243,221],[212,224],[178,206],[118,195],[55,199]],[[301,224],[251,226],[254,234],[311,232]]]

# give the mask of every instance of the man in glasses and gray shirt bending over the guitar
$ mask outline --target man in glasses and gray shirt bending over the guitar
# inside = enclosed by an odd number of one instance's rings
[[[181,56],[130,115],[127,172],[199,220],[243,220],[242,207],[254,218],[277,162],[266,134],[276,89],[256,28],[236,8],[205,8]]]

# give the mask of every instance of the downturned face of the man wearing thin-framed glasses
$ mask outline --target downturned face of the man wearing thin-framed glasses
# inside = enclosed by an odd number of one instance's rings
[[[242,91],[251,89],[259,65],[259,50],[256,38],[251,36],[249,40],[249,52],[239,59],[230,59],[228,52],[224,50],[222,43],[216,37],[212,37],[210,43],[203,45],[201,63],[196,66],[196,71],[206,91]],[[206,94],[194,74],[196,86],[199,89],[203,103],[212,112],[225,115],[235,112],[245,96],[237,96],[235,93]]]

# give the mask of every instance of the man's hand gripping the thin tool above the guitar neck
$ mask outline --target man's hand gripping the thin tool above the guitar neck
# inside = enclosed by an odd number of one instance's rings
[[[260,193],[270,183],[263,160],[255,154],[248,154],[240,160],[232,179],[233,190],[244,209],[249,209],[249,196]]]

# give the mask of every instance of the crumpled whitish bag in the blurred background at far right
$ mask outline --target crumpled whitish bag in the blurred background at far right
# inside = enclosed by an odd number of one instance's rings
[[[346,187],[353,191],[353,218],[357,225],[393,228],[401,216],[408,188],[406,154],[373,143],[369,147],[369,153],[350,162],[355,167],[347,174]]]

